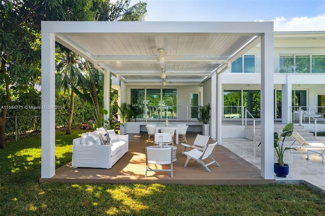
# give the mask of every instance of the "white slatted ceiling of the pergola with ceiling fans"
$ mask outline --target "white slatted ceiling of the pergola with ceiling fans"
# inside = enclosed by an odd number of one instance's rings
[[[167,82],[203,83],[258,37],[251,33],[102,32],[67,33],[58,38],[126,83],[160,83],[161,68],[173,74]]]

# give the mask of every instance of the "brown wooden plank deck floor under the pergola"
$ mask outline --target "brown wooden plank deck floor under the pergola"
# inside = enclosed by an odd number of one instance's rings
[[[186,134],[187,143],[192,143],[196,134]],[[56,169],[52,178],[40,178],[40,183],[161,183],[187,185],[257,185],[271,184],[275,181],[261,177],[261,170],[232,153],[223,146],[217,146],[213,157],[220,167],[210,165],[211,172],[191,160],[184,167],[186,156],[182,146],[177,147],[177,161],[174,162],[174,177],[170,172],[148,172],[145,174],[145,146],[147,134],[130,134],[129,151],[111,169],[73,168],[71,163]],[[209,143],[213,140],[210,139]],[[209,159],[207,159],[209,160]]]

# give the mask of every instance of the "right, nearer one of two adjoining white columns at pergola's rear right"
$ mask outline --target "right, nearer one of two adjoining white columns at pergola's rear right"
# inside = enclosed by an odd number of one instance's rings
[[[221,130],[222,130],[222,98],[223,98],[223,92],[222,92],[222,83],[221,83],[221,74],[217,74],[216,76],[216,97],[217,97],[217,141],[219,144],[221,144]]]

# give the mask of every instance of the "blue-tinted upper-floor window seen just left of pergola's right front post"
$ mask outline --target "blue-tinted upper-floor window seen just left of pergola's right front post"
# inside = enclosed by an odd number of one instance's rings
[[[255,56],[244,55],[232,63],[232,73],[255,73]]]

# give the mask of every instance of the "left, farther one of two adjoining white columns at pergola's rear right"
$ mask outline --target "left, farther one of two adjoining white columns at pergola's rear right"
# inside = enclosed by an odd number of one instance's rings
[[[216,97],[216,85],[217,84],[217,75],[213,75],[211,77],[211,121],[210,121],[210,129],[212,139],[216,140],[217,137],[217,97]]]

